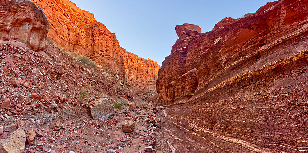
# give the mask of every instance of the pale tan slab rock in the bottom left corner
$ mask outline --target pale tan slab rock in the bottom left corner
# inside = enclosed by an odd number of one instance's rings
[[[21,153],[26,148],[26,132],[23,130],[16,130],[10,137],[0,141],[1,153]]]

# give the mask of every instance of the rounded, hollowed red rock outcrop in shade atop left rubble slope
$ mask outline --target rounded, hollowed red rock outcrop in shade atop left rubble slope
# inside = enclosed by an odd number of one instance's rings
[[[0,39],[16,40],[34,51],[46,48],[49,22],[31,0],[0,0]]]

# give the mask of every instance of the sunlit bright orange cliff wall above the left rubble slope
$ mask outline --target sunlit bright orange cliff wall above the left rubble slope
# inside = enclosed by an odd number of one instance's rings
[[[48,37],[54,45],[65,51],[87,56],[103,67],[109,67],[138,94],[156,90],[160,65],[120,47],[115,33],[97,22],[94,14],[79,9],[68,0],[33,2],[47,15],[50,23]]]

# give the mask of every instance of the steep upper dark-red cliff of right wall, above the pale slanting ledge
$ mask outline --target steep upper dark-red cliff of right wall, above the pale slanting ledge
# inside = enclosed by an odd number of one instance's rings
[[[255,57],[247,59],[245,65],[235,64],[241,58],[258,52],[259,47],[264,48],[300,29],[304,24],[302,22],[306,21],[307,9],[303,8],[305,5],[305,1],[271,2],[256,13],[246,14],[244,18],[224,18],[212,31],[202,34],[189,35],[180,28],[185,24],[176,26],[179,39],[173,45],[171,54],[165,58],[157,80],[157,92],[162,104],[188,100],[222,80],[234,77],[236,73],[231,73],[234,70],[242,70],[251,62],[257,62],[252,58],[266,57],[267,54],[277,52],[274,49],[266,51],[264,55],[257,53]],[[271,61],[273,60],[267,62]],[[184,82],[188,80],[182,75],[192,69],[197,69],[197,82],[187,92],[184,88],[188,86]]]

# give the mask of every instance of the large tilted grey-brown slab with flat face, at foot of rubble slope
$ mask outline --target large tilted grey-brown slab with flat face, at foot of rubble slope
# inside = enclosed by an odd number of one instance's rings
[[[106,119],[115,112],[111,100],[107,98],[96,100],[95,105],[90,106],[89,108],[94,120]]]

